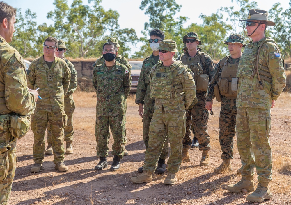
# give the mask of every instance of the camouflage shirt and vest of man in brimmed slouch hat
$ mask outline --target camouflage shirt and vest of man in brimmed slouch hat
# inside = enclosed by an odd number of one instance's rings
[[[239,85],[237,90],[237,107],[250,107],[260,109],[271,109],[272,100],[278,99],[285,88],[286,75],[282,64],[279,48],[275,43],[265,43],[259,53],[259,70],[262,66],[269,69],[272,76],[272,82],[261,79],[260,88],[258,75],[252,77],[254,63],[257,58],[258,48],[267,38],[258,42],[249,42],[244,48],[244,52],[239,61],[237,77]]]

